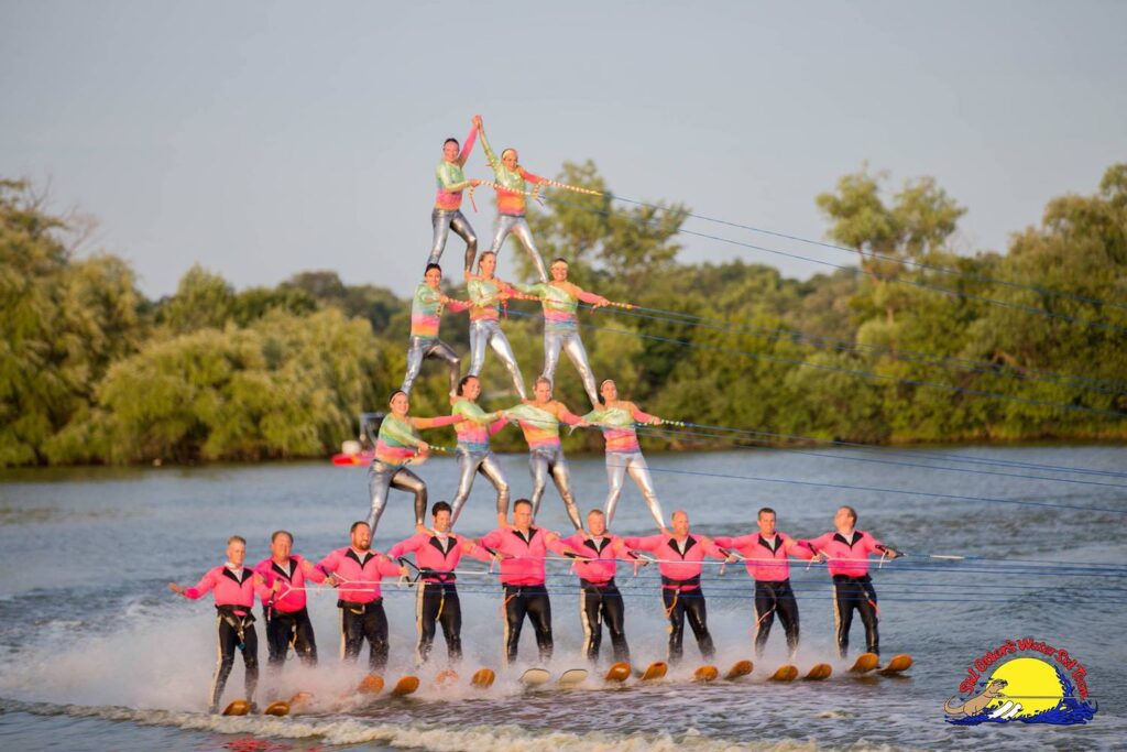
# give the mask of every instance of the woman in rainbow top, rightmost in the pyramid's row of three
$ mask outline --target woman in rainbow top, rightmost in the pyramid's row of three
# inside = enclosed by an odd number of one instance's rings
[[[598,392],[595,391],[595,374],[591,371],[587,351],[583,346],[583,340],[579,339],[579,321],[576,319],[575,312],[579,307],[579,301],[595,308],[609,306],[611,301],[568,282],[567,262],[562,258],[552,262],[551,282],[531,285],[514,284],[513,286],[523,293],[538,297],[544,310],[544,372],[540,374],[541,378],[548,379],[549,383],[554,383],[556,366],[559,365],[560,351],[562,350],[579,372],[591,406],[597,409]]]

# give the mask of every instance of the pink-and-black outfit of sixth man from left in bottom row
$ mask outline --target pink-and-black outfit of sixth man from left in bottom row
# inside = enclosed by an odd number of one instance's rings
[[[598,661],[598,648],[603,642],[603,625],[611,634],[611,645],[614,648],[614,661],[630,662],[630,647],[623,623],[625,608],[622,594],[614,583],[618,573],[616,558],[632,561],[620,542],[622,539],[612,533],[586,537],[577,532],[562,542],[580,556],[592,558],[592,561],[575,561],[573,569],[579,577],[579,619],[583,622],[583,652],[592,663]]]

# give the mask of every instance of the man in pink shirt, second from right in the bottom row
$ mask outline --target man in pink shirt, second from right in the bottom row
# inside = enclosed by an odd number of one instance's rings
[[[809,559],[814,556],[809,547],[790,536],[775,531],[775,512],[770,506],[760,510],[760,531],[739,538],[717,536],[716,545],[735,549],[747,564],[747,574],[755,581],[755,657],[763,657],[763,649],[779,614],[787,632],[787,648],[793,661],[798,653],[798,602],[790,587],[789,556]]]

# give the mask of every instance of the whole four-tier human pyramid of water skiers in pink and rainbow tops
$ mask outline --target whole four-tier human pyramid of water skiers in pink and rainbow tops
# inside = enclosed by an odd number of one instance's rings
[[[481,185],[467,179],[462,168],[474,141],[480,136],[495,179],[488,185],[497,194],[497,218],[490,249],[477,254],[477,237],[461,212],[462,195]],[[458,566],[463,555],[488,561],[499,561],[503,610],[505,612],[504,649],[507,663],[517,658],[517,647],[525,618],[535,634],[542,662],[552,655],[551,603],[545,586],[545,561],[552,555],[573,560],[579,578],[579,617],[584,629],[584,654],[596,663],[600,657],[602,627],[610,632],[613,658],[629,664],[630,651],[624,632],[622,595],[615,585],[619,561],[635,568],[649,563],[658,565],[665,614],[669,620],[668,658],[682,657],[684,622],[696,638],[706,660],[715,654],[708,630],[701,574],[706,558],[724,561],[744,560],[755,581],[754,644],[762,655],[774,616],[778,613],[787,636],[791,656],[799,642],[798,607],[789,581],[789,559],[828,561],[834,583],[834,613],[837,646],[844,658],[853,611],[858,611],[866,629],[867,652],[879,653],[877,631],[877,595],[868,574],[869,556],[895,558],[898,551],[877,541],[871,534],[855,530],[857,512],[843,506],[834,517],[835,530],[811,540],[798,540],[775,531],[775,512],[760,510],[758,531],[736,538],[709,539],[690,532],[689,515],[674,512],[666,525],[653,479],[646,466],[636,433],[637,425],[658,425],[663,419],[644,413],[633,402],[619,399],[613,380],[604,380],[596,391],[595,377],[579,336],[576,311],[580,302],[594,308],[612,303],[568,281],[568,264],[564,258],[552,262],[549,271],[535,247],[525,221],[525,197],[540,195],[542,186],[562,189],[586,189],[548,180],[529,172],[517,161],[515,149],[502,151],[497,159],[486,138],[480,116],[474,116],[465,144],[447,139],[443,160],[435,170],[437,196],[432,212],[434,242],[424,281],[411,302],[411,331],[407,354],[407,373],[402,386],[389,399],[390,412],[383,418],[374,459],[369,468],[371,508],[366,520],[354,522],[349,545],[330,552],[318,564],[293,555],[293,536],[284,530],[270,538],[270,556],[252,569],[243,566],[246,539],[232,536],[228,541],[227,561],[208,570],[194,587],[170,583],[172,592],[189,599],[214,592],[218,610],[216,629],[220,658],[213,678],[208,705],[218,711],[227,678],[234,663],[236,651],[242,651],[246,666],[248,702],[252,704],[258,679],[257,634],[252,607],[257,595],[263,605],[269,664],[281,670],[293,647],[305,663],[317,663],[317,644],[307,610],[307,583],[325,583],[336,589],[340,610],[341,654],[355,662],[365,642],[370,645],[371,671],[382,671],[388,661],[388,619],[381,595],[383,577],[417,580],[416,658],[429,660],[437,626],[442,627],[451,665],[461,660],[461,608],[455,585]],[[529,184],[534,186],[529,191]],[[454,300],[442,291],[440,262],[450,231],[465,241],[464,277],[469,300]],[[496,276],[497,256],[505,239],[515,236],[530,254],[540,282],[509,283]],[[477,269],[474,273],[474,263]],[[513,350],[500,328],[500,308],[511,299],[535,300],[541,303],[544,321],[544,366],[535,380],[533,397],[527,398],[524,379]],[[438,337],[444,310],[469,311],[470,368],[461,374],[461,359]],[[486,350],[492,348],[504,363],[521,401],[512,407],[485,412],[478,404],[481,393],[479,374]],[[583,380],[592,410],[578,416],[554,399],[552,386],[560,351],[568,355]],[[450,369],[452,412],[436,417],[411,416],[410,391],[427,359],[445,362]],[[512,504],[509,516],[509,483],[489,449],[490,436],[515,423],[529,444],[532,493]],[[592,510],[586,527],[580,520],[571,492],[567,460],[560,444],[560,424],[596,427],[605,440],[607,495],[603,510]],[[424,460],[432,448],[419,431],[452,425],[458,434],[453,453],[459,463],[459,481],[452,502],[433,505],[432,524],[425,524],[428,504],[427,485],[409,466]],[[453,532],[474,477],[481,474],[496,490],[497,529],[472,539]],[[638,485],[649,512],[660,531],[658,534],[622,538],[610,532],[615,507],[622,494],[625,476]],[[534,519],[540,510],[551,477],[575,527],[575,533],[559,533],[538,528]],[[414,534],[392,546],[387,554],[371,547],[391,489],[414,495]],[[408,558],[414,555],[414,563]],[[875,665],[875,664],[873,664]],[[871,667],[871,666],[870,666]]]

